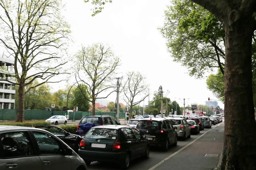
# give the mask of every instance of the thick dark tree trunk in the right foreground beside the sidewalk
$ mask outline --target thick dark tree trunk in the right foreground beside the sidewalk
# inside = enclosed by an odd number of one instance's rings
[[[256,123],[252,93],[253,18],[230,12],[225,25],[225,133],[222,170],[256,169]]]

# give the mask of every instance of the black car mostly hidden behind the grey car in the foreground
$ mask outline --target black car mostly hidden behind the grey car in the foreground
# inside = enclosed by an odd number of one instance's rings
[[[50,133],[60,138],[63,142],[65,142],[75,152],[78,151],[79,143],[83,139],[79,135],[70,134],[57,126],[35,126],[35,128],[49,131]]]

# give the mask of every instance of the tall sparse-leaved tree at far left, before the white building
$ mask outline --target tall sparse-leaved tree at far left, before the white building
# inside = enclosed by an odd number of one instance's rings
[[[31,89],[65,73],[61,50],[66,50],[69,25],[61,15],[59,0],[0,0],[0,43],[14,59],[14,76],[5,72],[9,83],[18,85],[18,112],[15,121],[24,122],[24,96]],[[40,57],[39,57],[40,56]],[[31,71],[33,70],[33,71]],[[30,86],[33,81],[38,84]],[[59,81],[57,81],[59,82]],[[25,90],[26,89],[26,90]]]

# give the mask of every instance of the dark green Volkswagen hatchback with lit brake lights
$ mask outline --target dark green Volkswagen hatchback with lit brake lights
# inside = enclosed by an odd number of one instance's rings
[[[87,165],[93,161],[115,162],[126,169],[134,158],[149,158],[149,142],[133,127],[96,126],[91,128],[80,142],[78,155]]]

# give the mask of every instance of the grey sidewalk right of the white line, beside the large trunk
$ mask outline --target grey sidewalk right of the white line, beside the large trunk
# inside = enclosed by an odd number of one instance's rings
[[[202,134],[200,133],[200,136]],[[181,151],[170,155],[169,159],[160,162],[158,166],[150,170],[166,169],[189,169],[189,170],[212,170],[218,162],[223,145],[224,122],[211,129],[202,137],[195,140],[189,146],[184,146]],[[218,157],[206,157],[206,154],[218,154]],[[214,155],[209,155],[214,156]]]

